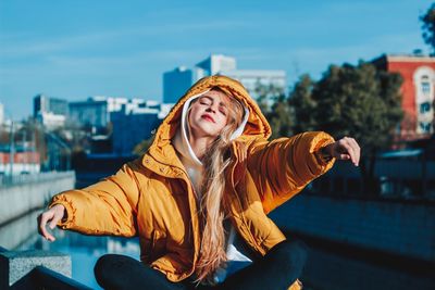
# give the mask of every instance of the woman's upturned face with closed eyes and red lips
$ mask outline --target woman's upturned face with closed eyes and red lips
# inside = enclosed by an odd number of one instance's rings
[[[199,97],[188,116],[191,137],[217,137],[228,121],[229,102],[225,93],[216,90]]]

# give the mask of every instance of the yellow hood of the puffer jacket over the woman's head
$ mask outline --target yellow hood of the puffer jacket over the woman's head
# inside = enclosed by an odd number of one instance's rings
[[[171,112],[159,126],[154,141],[148,151],[152,156],[159,160],[159,155],[171,155],[171,152],[166,152],[167,144],[171,143],[171,139],[181,126],[184,104],[189,99],[194,99],[192,97],[200,96],[213,87],[219,87],[226,94],[236,98],[249,112],[248,121],[240,134],[241,136],[258,136],[265,139],[270,137],[271,126],[245,87],[239,81],[229,77],[214,75],[199,79],[172,108]]]

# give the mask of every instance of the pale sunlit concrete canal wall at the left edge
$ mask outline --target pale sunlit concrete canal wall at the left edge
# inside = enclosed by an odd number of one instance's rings
[[[40,209],[58,192],[74,188],[75,173],[44,173],[30,175],[20,182],[1,184],[0,226]]]

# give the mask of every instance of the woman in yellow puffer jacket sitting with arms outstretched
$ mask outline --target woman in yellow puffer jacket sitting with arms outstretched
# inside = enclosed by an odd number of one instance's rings
[[[87,235],[139,236],[140,262],[102,256],[108,289],[300,289],[303,245],[269,214],[327,172],[358,165],[360,148],[321,131],[269,142],[271,128],[236,80],[195,84],[159,127],[147,153],[114,176],[55,196],[46,225]]]

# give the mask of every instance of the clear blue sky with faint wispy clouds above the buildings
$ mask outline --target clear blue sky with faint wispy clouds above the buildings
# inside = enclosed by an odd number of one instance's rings
[[[0,0],[0,102],[32,114],[33,97],[161,100],[162,74],[210,53],[243,70],[285,70],[290,86],[330,64],[428,48],[432,1]]]

